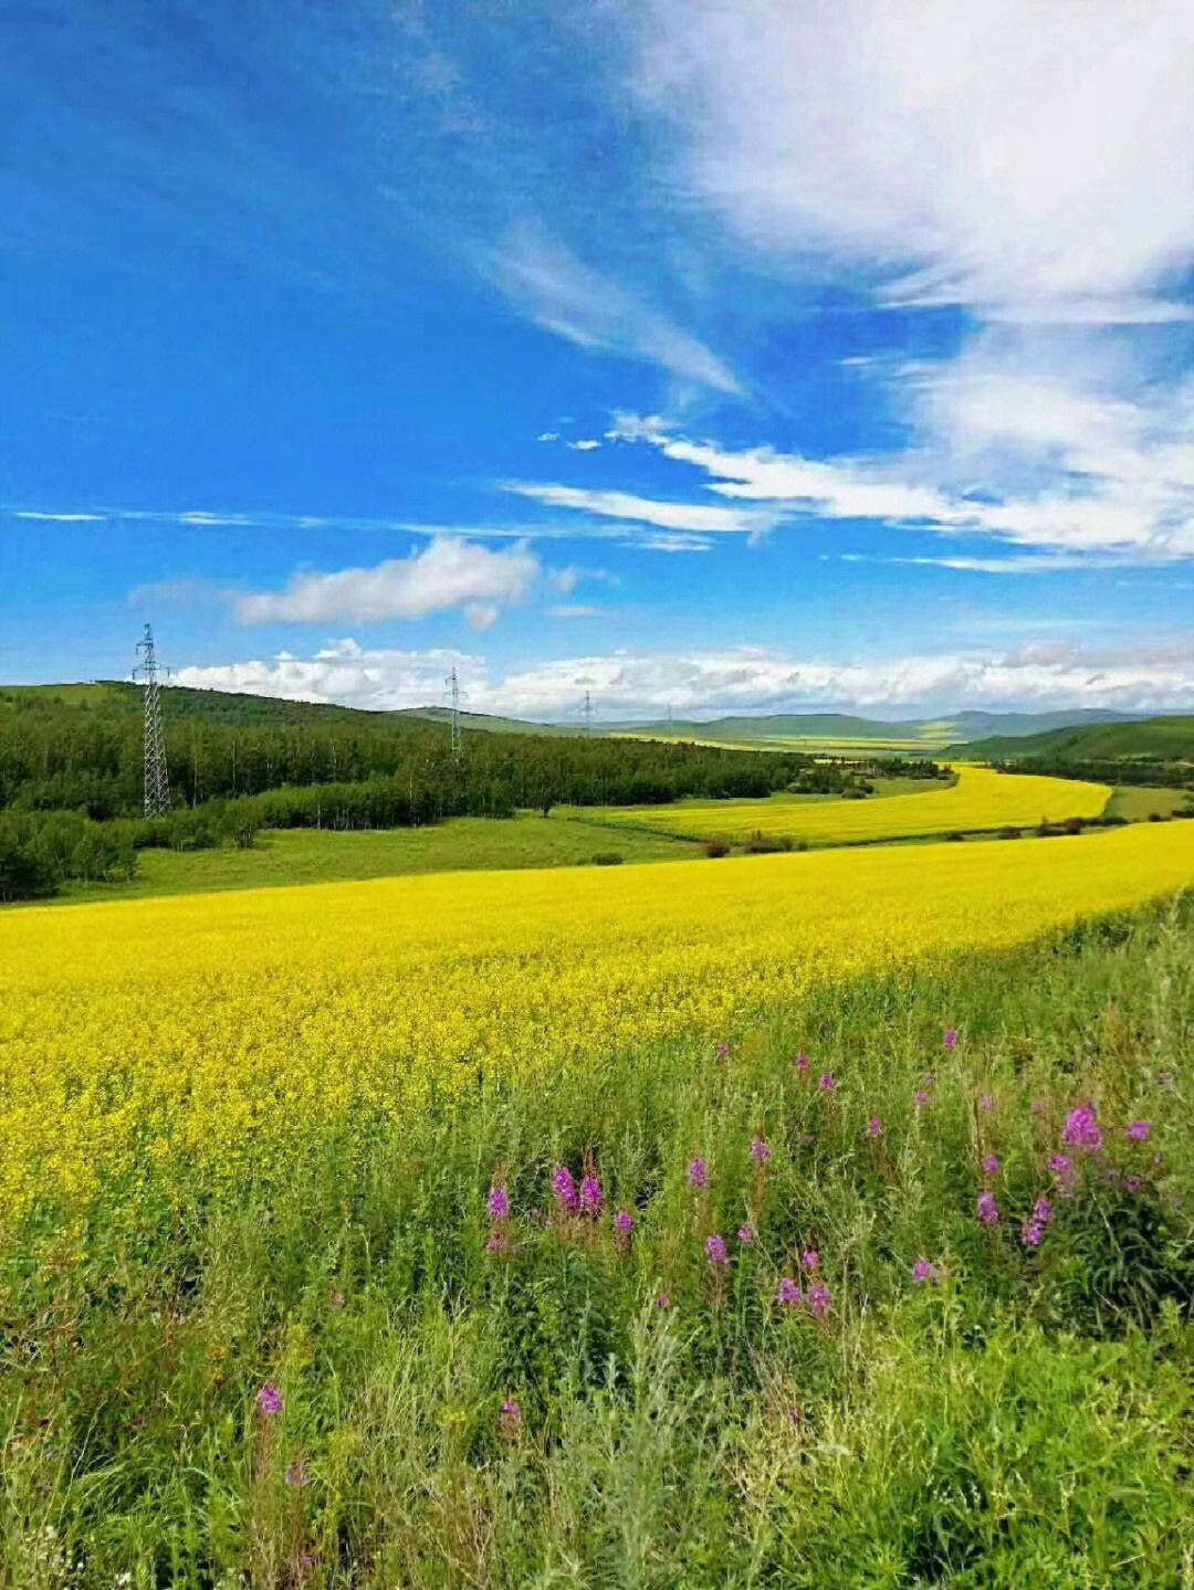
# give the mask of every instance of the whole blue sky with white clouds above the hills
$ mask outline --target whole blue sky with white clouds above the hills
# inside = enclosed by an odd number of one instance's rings
[[[6,19],[0,677],[1194,709],[1188,0]]]

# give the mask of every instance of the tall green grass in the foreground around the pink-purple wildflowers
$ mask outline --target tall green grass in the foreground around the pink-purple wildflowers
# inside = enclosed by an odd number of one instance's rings
[[[175,1167],[81,1232],[40,1212],[0,1294],[0,1585],[1189,1585],[1192,935],[1178,902],[725,1054],[348,1119],[234,1200]],[[1100,1156],[1062,1143],[1080,1100]]]

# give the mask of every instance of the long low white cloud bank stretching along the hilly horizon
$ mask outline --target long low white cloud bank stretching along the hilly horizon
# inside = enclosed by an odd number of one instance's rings
[[[369,649],[331,642],[310,658],[183,668],[176,682],[366,708],[429,706],[444,700],[456,668],[479,712],[563,719],[590,690],[607,719],[730,711],[857,708],[881,716],[963,708],[1108,708],[1194,711],[1194,642],[1143,639],[1134,647],[1081,649],[1043,639],[1013,649],[971,649],[855,661],[798,658],[765,647],[582,653],[491,677],[482,657],[453,650]]]

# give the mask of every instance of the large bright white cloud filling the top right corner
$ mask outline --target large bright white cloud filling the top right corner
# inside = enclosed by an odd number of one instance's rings
[[[639,102],[752,245],[1119,320],[1194,259],[1189,0],[655,0]],[[1100,305],[1100,301],[1102,305]],[[1184,307],[1180,308],[1184,313]]]

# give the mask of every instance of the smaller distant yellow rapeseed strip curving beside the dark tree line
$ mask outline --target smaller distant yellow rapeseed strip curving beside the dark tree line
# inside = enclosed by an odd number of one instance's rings
[[[688,838],[746,840],[755,832],[812,844],[854,844],[933,833],[979,833],[1029,827],[1043,817],[1097,817],[1111,795],[1105,784],[1046,779],[1035,774],[959,768],[957,784],[928,785],[913,795],[870,800],[741,800],[680,801],[671,806],[625,806],[603,812],[618,825],[657,828]]]

